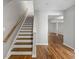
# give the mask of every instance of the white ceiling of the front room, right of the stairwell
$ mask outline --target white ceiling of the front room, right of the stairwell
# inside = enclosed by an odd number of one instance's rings
[[[75,0],[34,0],[35,10],[65,10],[75,4]]]

